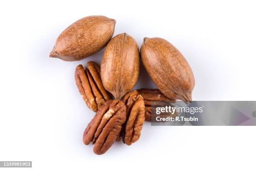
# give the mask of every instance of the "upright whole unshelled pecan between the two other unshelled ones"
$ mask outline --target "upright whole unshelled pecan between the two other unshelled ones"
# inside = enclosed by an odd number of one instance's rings
[[[130,35],[116,35],[108,43],[101,60],[101,79],[106,90],[120,100],[138,80],[139,49]]]

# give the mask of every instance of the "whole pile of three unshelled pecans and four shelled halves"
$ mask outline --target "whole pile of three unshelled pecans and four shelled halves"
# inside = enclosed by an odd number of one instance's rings
[[[87,68],[78,65],[74,76],[84,102],[96,112],[84,130],[83,142],[92,142],[98,155],[121,138],[126,145],[135,143],[144,121],[159,116],[156,107],[177,99],[191,102],[195,86],[187,60],[171,43],[158,37],[144,38],[139,50],[127,33],[112,38],[114,28],[115,20],[105,16],[82,18],[61,32],[50,53],[50,57],[77,61],[106,46],[101,65],[93,61],[87,62]],[[140,57],[158,89],[131,91],[138,80]]]

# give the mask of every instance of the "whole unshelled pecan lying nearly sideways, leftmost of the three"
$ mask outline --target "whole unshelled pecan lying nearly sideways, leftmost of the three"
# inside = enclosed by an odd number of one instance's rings
[[[102,50],[114,33],[115,20],[88,16],[69,25],[57,38],[50,57],[65,61],[82,60]]]

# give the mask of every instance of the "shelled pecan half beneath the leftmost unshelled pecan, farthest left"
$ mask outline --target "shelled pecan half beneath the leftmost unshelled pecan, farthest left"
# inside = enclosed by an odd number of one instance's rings
[[[87,62],[87,68],[78,65],[75,70],[75,81],[86,105],[97,112],[100,106],[110,100],[109,93],[103,87],[100,78],[100,66],[96,62]]]

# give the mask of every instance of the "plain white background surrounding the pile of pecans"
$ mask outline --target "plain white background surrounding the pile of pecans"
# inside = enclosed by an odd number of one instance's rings
[[[104,155],[82,143],[94,116],[74,82],[77,62],[50,58],[58,35],[88,15],[116,20],[141,46],[162,37],[195,75],[193,100],[256,100],[256,5],[253,1],[0,2],[0,160],[33,169],[255,169],[256,127],[153,127],[140,140],[116,142]],[[142,65],[141,65],[142,66]],[[136,89],[154,87],[141,67]]]

